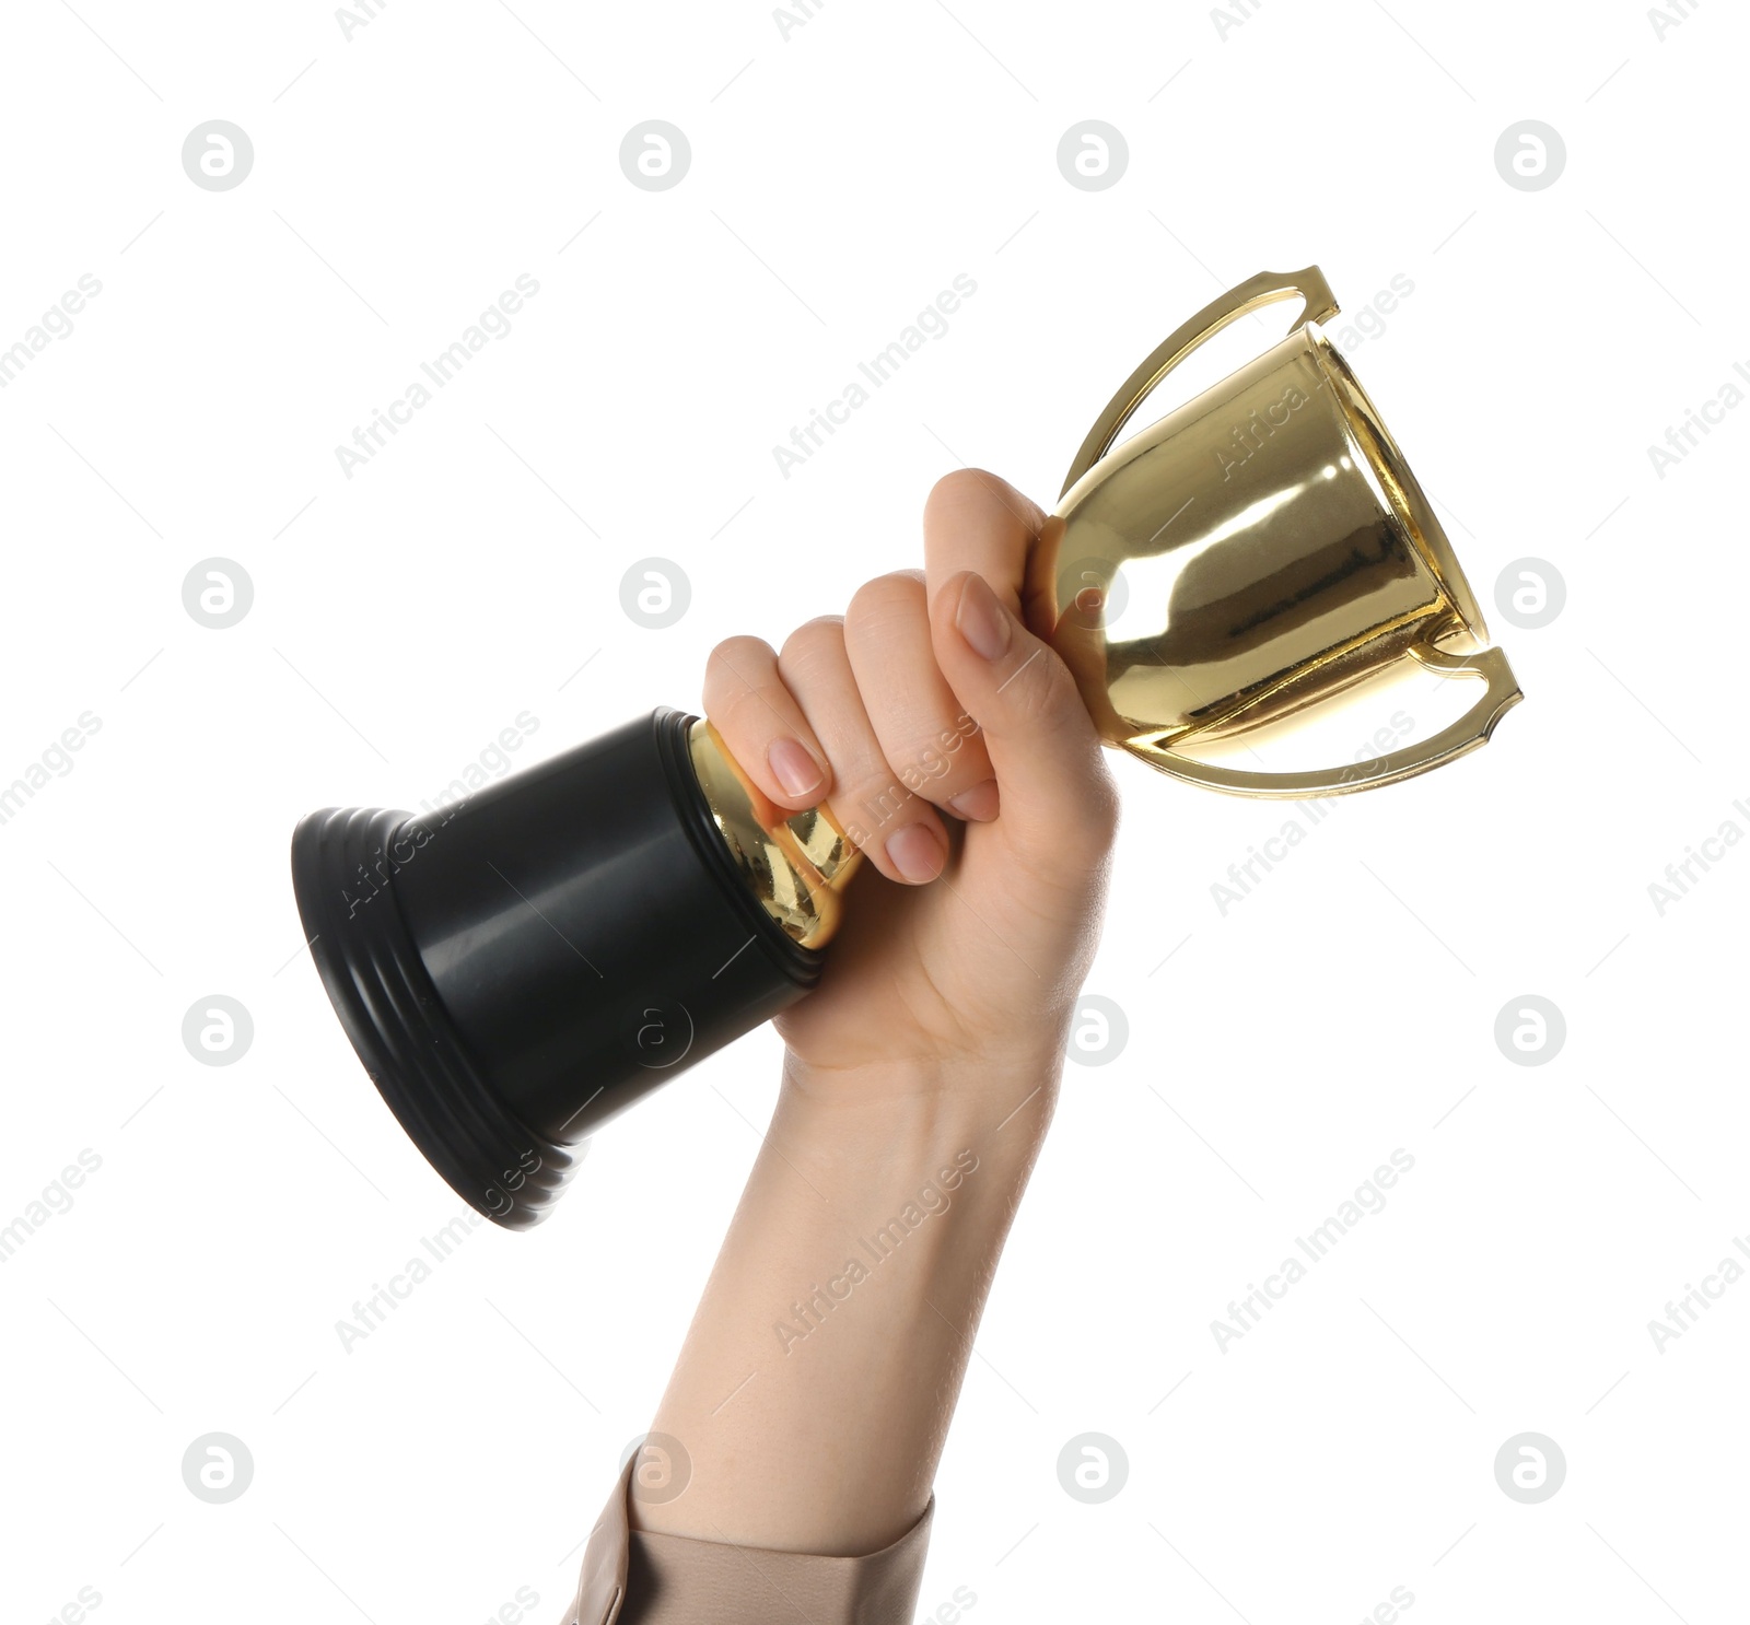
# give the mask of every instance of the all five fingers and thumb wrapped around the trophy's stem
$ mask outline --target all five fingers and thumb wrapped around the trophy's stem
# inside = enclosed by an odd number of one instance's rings
[[[1059,530],[994,474],[938,481],[924,577],[868,582],[782,654],[718,645],[705,712],[730,754],[779,808],[828,801],[889,880],[942,873],[945,808],[994,820],[1022,862],[1073,889],[1080,854],[1110,843],[1116,792],[1076,680],[1043,642]]]

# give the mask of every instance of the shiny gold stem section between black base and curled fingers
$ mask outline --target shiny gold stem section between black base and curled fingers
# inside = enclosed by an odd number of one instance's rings
[[[840,892],[863,854],[824,805],[786,819],[740,770],[709,721],[693,724],[688,750],[718,833],[760,906],[791,941],[824,946],[838,929]]]

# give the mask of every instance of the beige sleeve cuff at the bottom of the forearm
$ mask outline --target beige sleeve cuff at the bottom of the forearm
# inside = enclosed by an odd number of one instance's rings
[[[626,1462],[590,1531],[564,1625],[908,1625],[936,1499],[882,1552],[810,1557],[632,1529]]]

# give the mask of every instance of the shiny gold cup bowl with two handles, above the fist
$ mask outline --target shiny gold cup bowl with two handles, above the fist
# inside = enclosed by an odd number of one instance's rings
[[[1306,308],[1286,338],[1113,448],[1199,345],[1297,294]],[[1052,644],[1101,735],[1209,789],[1306,796],[1393,784],[1482,745],[1521,698],[1507,656],[1486,647],[1477,600],[1396,441],[1318,327],[1335,311],[1316,266],[1253,276],[1199,311],[1113,395],[1054,516],[1076,579],[1059,582]],[[1405,658],[1484,684],[1421,745],[1312,773],[1188,754]]]

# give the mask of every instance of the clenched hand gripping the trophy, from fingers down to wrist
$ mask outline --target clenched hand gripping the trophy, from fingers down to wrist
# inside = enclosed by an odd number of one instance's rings
[[[789,1081],[1036,1074],[1099,936],[1116,792],[1069,670],[1040,509],[976,469],[924,509],[922,572],[882,575],[780,652],[730,638],[705,714],[788,812],[864,852],[821,987],[777,1023]]]

